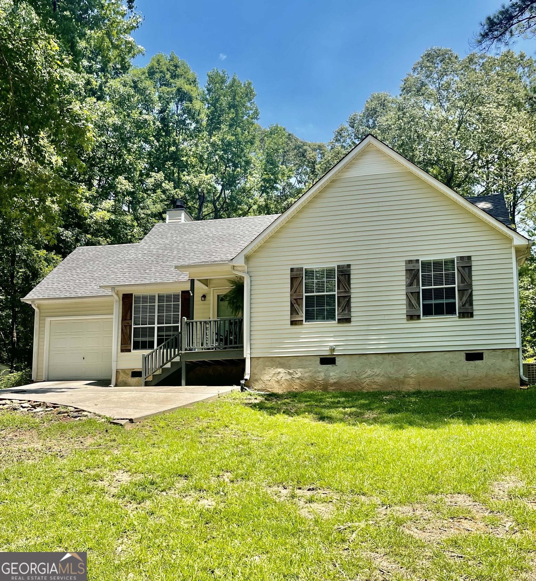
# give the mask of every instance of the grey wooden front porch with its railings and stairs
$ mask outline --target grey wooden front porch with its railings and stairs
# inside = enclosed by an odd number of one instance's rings
[[[157,385],[182,370],[186,385],[186,364],[191,361],[226,361],[244,358],[244,321],[240,317],[182,319],[180,332],[142,354],[142,386]]]

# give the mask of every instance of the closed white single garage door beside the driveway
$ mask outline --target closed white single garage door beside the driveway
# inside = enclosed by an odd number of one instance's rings
[[[48,379],[111,379],[112,319],[50,320]]]

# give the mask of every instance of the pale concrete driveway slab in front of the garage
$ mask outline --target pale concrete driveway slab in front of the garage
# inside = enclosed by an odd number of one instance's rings
[[[236,386],[153,386],[110,388],[99,381],[42,381],[0,390],[0,400],[46,401],[106,415],[117,423],[139,422],[151,415],[165,414],[229,393]],[[122,420],[122,421],[121,421]]]

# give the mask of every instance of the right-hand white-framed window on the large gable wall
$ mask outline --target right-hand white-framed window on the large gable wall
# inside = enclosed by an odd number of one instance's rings
[[[421,260],[422,316],[456,314],[456,261]]]

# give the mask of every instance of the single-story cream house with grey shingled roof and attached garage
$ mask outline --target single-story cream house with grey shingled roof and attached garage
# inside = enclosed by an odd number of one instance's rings
[[[514,388],[531,244],[501,195],[462,198],[368,136],[280,216],[179,205],[140,243],[75,250],[24,299],[34,379],[184,382],[236,361],[275,392]]]

